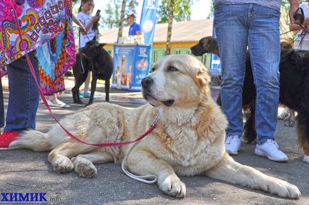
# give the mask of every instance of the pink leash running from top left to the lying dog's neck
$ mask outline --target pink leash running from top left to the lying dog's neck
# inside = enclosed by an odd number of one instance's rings
[[[16,13],[16,9],[14,7],[14,3],[13,3],[13,0],[11,0],[11,3],[13,5],[13,10],[14,10],[14,20],[15,20],[15,23],[16,23],[16,26],[19,30],[19,37],[21,38],[21,43],[23,43],[23,38],[22,38],[22,35],[21,35],[21,27],[19,26],[19,20],[17,19],[17,13]],[[23,46],[21,46],[21,48],[23,48]],[[23,50],[25,51],[25,50]],[[41,90],[41,86],[38,84],[38,80],[36,79],[36,72],[33,68],[33,65],[30,61],[30,58],[28,56],[28,53],[26,52],[26,59],[27,59],[27,62],[28,62],[28,65],[30,67],[30,70],[31,70],[31,73],[33,75],[33,78],[34,80],[36,80],[36,86],[38,87],[38,93],[40,93],[41,95],[41,98],[43,100],[43,104],[45,105],[45,107],[47,108],[47,110],[49,112],[51,112],[51,116],[53,116],[53,119],[56,120],[56,122],[58,123],[58,125],[60,125],[60,127],[62,128],[62,130],[64,132],[66,132],[66,134],[71,137],[73,140],[77,141],[77,142],[80,142],[82,144],[88,144],[88,145],[92,145],[92,146],[100,146],[100,147],[116,147],[116,146],[121,146],[121,145],[126,145],[126,144],[131,144],[133,142],[137,142],[138,140],[142,140],[142,138],[146,137],[147,135],[150,134],[150,132],[152,132],[153,129],[155,129],[156,127],[156,124],[157,124],[157,120],[158,120],[158,117],[159,117],[159,114],[157,114],[157,116],[155,117],[155,120],[152,122],[151,124],[151,127],[144,133],[142,134],[140,137],[138,137],[136,140],[133,140],[133,141],[130,141],[130,142],[103,142],[103,143],[99,143],[99,144],[91,144],[91,143],[88,143],[88,142],[83,142],[82,140],[80,140],[78,137],[75,137],[74,135],[72,135],[70,132],[68,132],[68,130],[66,130],[65,127],[63,127],[61,125],[61,123],[57,120],[56,116],[53,115],[53,112],[51,111],[51,108],[49,107],[47,101],[46,101],[46,98],[44,96],[44,93],[43,91]]]

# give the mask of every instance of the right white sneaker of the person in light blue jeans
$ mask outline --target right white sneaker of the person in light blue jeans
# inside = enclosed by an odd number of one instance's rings
[[[267,157],[269,160],[276,162],[286,162],[288,161],[288,156],[284,154],[275,140],[267,140],[264,144],[256,144],[256,149],[254,154]]]

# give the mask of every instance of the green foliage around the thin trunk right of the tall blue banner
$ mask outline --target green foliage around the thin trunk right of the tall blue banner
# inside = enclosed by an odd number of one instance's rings
[[[174,0],[174,21],[189,21],[191,15],[192,0]],[[167,23],[169,19],[170,0],[162,0],[157,13],[158,23]]]

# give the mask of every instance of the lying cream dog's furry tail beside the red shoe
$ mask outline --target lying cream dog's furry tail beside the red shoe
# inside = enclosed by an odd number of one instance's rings
[[[48,133],[30,130],[23,132],[9,147],[1,149],[32,149],[35,152],[47,152],[51,150],[51,143]]]

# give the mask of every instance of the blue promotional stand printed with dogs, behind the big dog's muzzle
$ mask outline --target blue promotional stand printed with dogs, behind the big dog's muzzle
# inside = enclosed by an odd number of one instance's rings
[[[140,91],[142,78],[150,70],[150,46],[114,45],[112,88]]]

